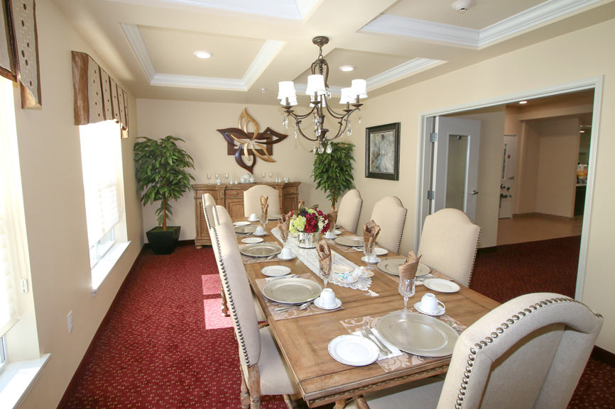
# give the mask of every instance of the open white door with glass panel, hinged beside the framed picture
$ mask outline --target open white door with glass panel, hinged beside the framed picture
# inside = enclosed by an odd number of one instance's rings
[[[481,121],[435,118],[432,212],[457,208],[476,220]]]

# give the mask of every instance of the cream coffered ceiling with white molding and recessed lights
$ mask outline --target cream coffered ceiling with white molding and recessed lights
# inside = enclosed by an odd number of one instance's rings
[[[371,97],[615,17],[615,0],[54,1],[137,98],[266,104],[305,87],[316,35],[333,94],[364,78]]]

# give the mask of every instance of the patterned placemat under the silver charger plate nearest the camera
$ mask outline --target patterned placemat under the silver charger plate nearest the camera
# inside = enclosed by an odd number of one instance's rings
[[[414,312],[414,308],[408,309]],[[376,327],[376,325],[378,324],[378,320],[387,314],[388,313],[380,315],[365,315],[364,317],[349,318],[347,320],[341,320],[339,322],[342,323],[342,325],[344,325],[344,328],[346,328],[346,330],[352,334],[353,332],[360,330],[361,326],[364,323],[372,328]],[[447,323],[447,325],[450,325],[450,327],[452,327],[459,334],[467,328],[466,326],[459,323],[459,321],[455,320],[455,318],[452,318],[450,315],[447,314],[435,318],[444,321],[445,323]],[[380,359],[379,361],[376,361],[376,363],[382,368],[383,371],[391,372],[398,369],[409,368],[410,366],[424,364],[425,362],[435,361],[436,359],[440,358],[420,357],[419,355],[402,352],[402,354],[398,355],[397,357]]]

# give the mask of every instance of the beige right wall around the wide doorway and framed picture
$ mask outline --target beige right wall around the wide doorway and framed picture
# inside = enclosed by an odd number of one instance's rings
[[[604,75],[603,115],[599,123],[597,175],[582,299],[604,315],[605,323],[598,344],[611,352],[615,352],[615,298],[610,295],[615,286],[615,269],[611,263],[612,230],[615,226],[611,206],[615,201],[615,191],[611,186],[615,174],[615,161],[611,160],[615,155],[615,138],[611,135],[615,133],[615,116],[608,113],[615,109],[615,53],[605,50],[611,50],[613,35],[615,21],[606,21],[367,99],[362,125],[360,128],[355,125],[352,136],[357,144],[357,189],[364,197],[361,222],[365,223],[369,218],[378,198],[389,194],[399,196],[408,207],[402,247],[403,251],[408,251],[414,245],[418,121],[421,113]],[[584,50],[584,57],[571,59],[571,50]],[[365,153],[363,129],[391,122],[401,122],[400,180],[366,179],[361,176],[364,174]],[[597,135],[593,136],[596,138]]]

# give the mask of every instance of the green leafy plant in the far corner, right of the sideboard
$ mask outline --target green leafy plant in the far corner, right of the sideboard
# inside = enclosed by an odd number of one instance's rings
[[[354,189],[352,176],[352,150],[354,145],[346,142],[331,142],[332,152],[318,153],[314,157],[312,179],[316,182],[316,189],[325,191],[331,206],[335,206],[339,196]]]

